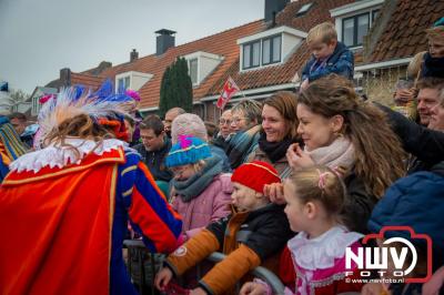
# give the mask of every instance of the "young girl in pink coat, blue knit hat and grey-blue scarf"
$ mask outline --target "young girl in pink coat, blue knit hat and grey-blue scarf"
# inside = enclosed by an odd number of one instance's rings
[[[206,142],[191,135],[179,136],[165,165],[174,173],[171,200],[183,218],[184,241],[230,214],[231,174],[222,173],[222,160],[211,154]]]

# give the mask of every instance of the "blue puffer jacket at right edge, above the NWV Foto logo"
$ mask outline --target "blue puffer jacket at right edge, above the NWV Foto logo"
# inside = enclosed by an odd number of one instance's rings
[[[369,230],[379,233],[382,226],[407,225],[417,234],[432,238],[433,268],[444,264],[444,162],[430,172],[413,173],[396,181],[376,204]],[[402,236],[421,246],[404,231],[387,232],[385,237]]]

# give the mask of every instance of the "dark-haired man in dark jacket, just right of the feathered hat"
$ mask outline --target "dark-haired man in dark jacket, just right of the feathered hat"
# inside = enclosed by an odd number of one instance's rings
[[[171,149],[171,140],[167,136],[162,120],[158,115],[149,115],[142,121],[140,139],[142,143],[134,149],[141,154],[154,180],[169,182],[173,175],[165,167],[164,157]]]

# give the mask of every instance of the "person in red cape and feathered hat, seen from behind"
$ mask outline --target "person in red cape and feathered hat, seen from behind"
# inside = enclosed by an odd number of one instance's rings
[[[128,220],[151,251],[175,248],[179,215],[117,139],[128,102],[68,89],[43,105],[41,149],[0,186],[1,294],[137,294],[122,258]]]

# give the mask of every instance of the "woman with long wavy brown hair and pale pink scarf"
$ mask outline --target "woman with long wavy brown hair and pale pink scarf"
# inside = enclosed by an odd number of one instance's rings
[[[374,204],[405,170],[404,151],[384,113],[362,101],[350,81],[332,74],[301,92],[297,118],[304,148],[289,149],[290,164],[296,170],[322,164],[342,173],[349,189],[345,222],[366,232]]]

